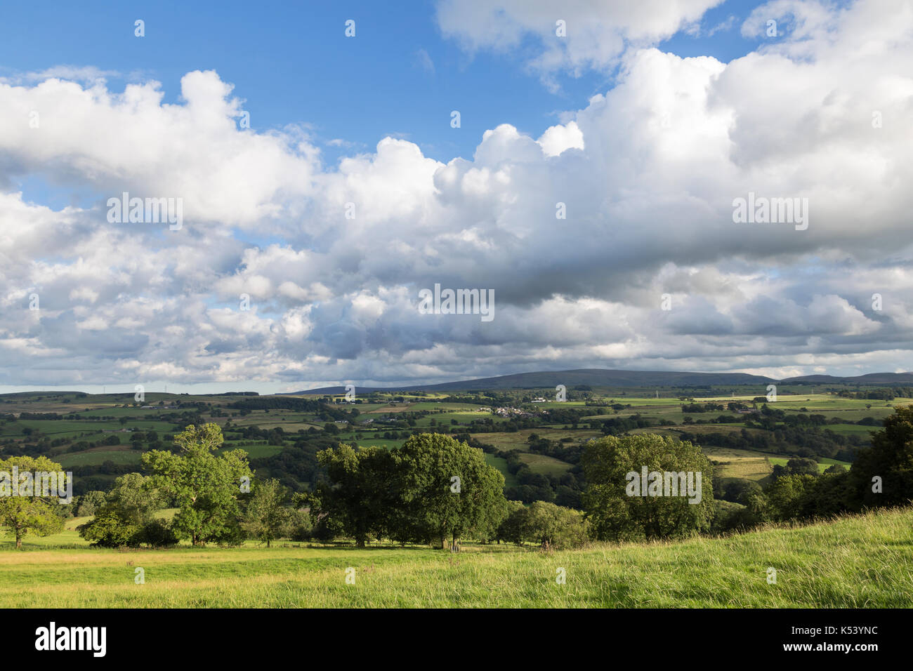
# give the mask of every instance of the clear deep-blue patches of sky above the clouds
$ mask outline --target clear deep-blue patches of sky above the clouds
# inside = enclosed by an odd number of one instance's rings
[[[729,61],[756,39],[740,36],[741,21],[759,2],[729,0],[708,10],[705,31],[736,20],[711,37],[679,33],[660,44],[682,57]],[[125,81],[156,79],[165,102],[177,102],[179,82],[194,69],[215,69],[247,100],[258,131],[304,124],[320,142],[341,139],[373,151],[394,134],[446,162],[470,158],[482,133],[500,123],[538,136],[558,114],[585,106],[613,86],[614,73],[564,75],[561,90],[544,88],[523,65],[537,38],[516,52],[468,54],[436,26],[435,4],[391,11],[378,2],[10,3],[0,23],[0,75],[59,65],[119,73]],[[356,21],[356,37],[344,22]],[[133,23],[145,21],[145,37]],[[425,59],[422,54],[427,55]],[[433,71],[428,63],[433,63]],[[462,126],[450,128],[451,110]],[[328,162],[341,153],[324,147]]]

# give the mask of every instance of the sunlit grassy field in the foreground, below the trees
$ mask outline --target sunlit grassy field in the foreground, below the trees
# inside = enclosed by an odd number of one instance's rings
[[[70,520],[72,526],[73,520]],[[504,545],[54,547],[75,531],[0,543],[0,607],[913,606],[913,509],[680,543],[544,553]],[[767,582],[768,568],[777,582]],[[145,583],[136,584],[142,568]],[[354,569],[355,583],[345,582]],[[566,583],[556,575],[563,569]]]

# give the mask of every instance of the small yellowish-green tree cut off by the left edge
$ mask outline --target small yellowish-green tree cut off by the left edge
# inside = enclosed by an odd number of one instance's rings
[[[60,514],[59,497],[36,496],[41,492],[36,491],[34,484],[30,496],[11,496],[14,487],[23,492],[21,483],[12,481],[14,467],[20,476],[39,472],[57,473],[59,476],[61,469],[59,464],[47,456],[11,456],[6,460],[0,459],[0,474],[5,474],[6,478],[3,490],[0,491],[0,528],[9,530],[16,538],[16,548],[21,548],[22,540],[29,533],[37,536],[58,533],[63,529],[64,520]]]

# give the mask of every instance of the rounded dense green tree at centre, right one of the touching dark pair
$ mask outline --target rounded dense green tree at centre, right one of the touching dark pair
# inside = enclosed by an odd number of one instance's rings
[[[392,455],[396,540],[434,541],[443,548],[449,538],[456,547],[473,531],[495,528],[504,509],[504,476],[480,449],[449,435],[419,434]]]

